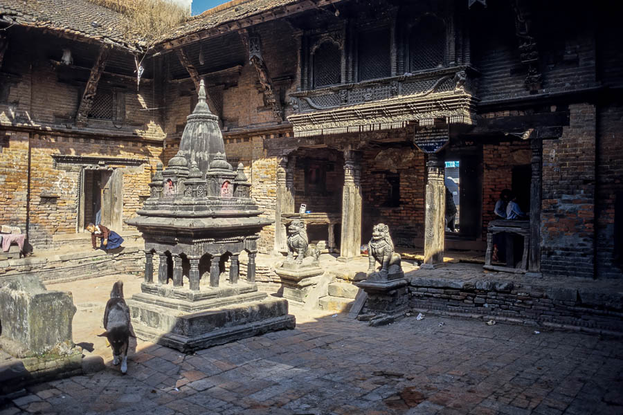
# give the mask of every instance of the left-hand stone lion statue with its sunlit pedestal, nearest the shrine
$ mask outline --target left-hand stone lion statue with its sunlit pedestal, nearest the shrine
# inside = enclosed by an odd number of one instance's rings
[[[324,271],[320,268],[320,250],[307,239],[305,223],[294,219],[288,226],[288,256],[275,272],[281,278],[283,297],[305,304],[309,292],[318,284]],[[296,257],[294,254],[296,253]]]

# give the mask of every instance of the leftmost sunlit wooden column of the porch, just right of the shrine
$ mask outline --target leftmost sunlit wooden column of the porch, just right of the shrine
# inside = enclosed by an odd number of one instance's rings
[[[277,166],[277,201],[275,205],[275,251],[287,250],[287,230],[281,215],[294,213],[294,156],[281,156]]]

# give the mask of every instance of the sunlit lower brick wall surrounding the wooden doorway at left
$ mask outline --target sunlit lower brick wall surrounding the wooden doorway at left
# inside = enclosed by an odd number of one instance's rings
[[[0,223],[20,226],[26,232],[28,222],[28,241],[35,248],[48,246],[54,234],[75,233],[78,221],[80,165],[55,165],[53,154],[146,160],[136,167],[111,165],[123,172],[125,220],[134,216],[149,196],[148,183],[162,152],[159,142],[31,133],[28,182],[28,134],[12,133],[8,137],[0,160]],[[78,225],[82,228],[82,224]],[[128,229],[126,225],[123,228]]]

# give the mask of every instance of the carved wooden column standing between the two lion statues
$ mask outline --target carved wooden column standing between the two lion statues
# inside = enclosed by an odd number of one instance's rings
[[[361,256],[361,154],[344,151],[340,261]]]

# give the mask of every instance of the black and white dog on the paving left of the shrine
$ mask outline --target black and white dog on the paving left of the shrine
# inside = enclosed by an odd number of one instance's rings
[[[110,299],[104,311],[104,328],[106,331],[98,336],[108,339],[113,351],[113,365],[121,363],[121,373],[125,374],[129,336],[135,338],[136,335],[130,324],[129,308],[123,299],[122,281],[116,282],[110,292]]]

